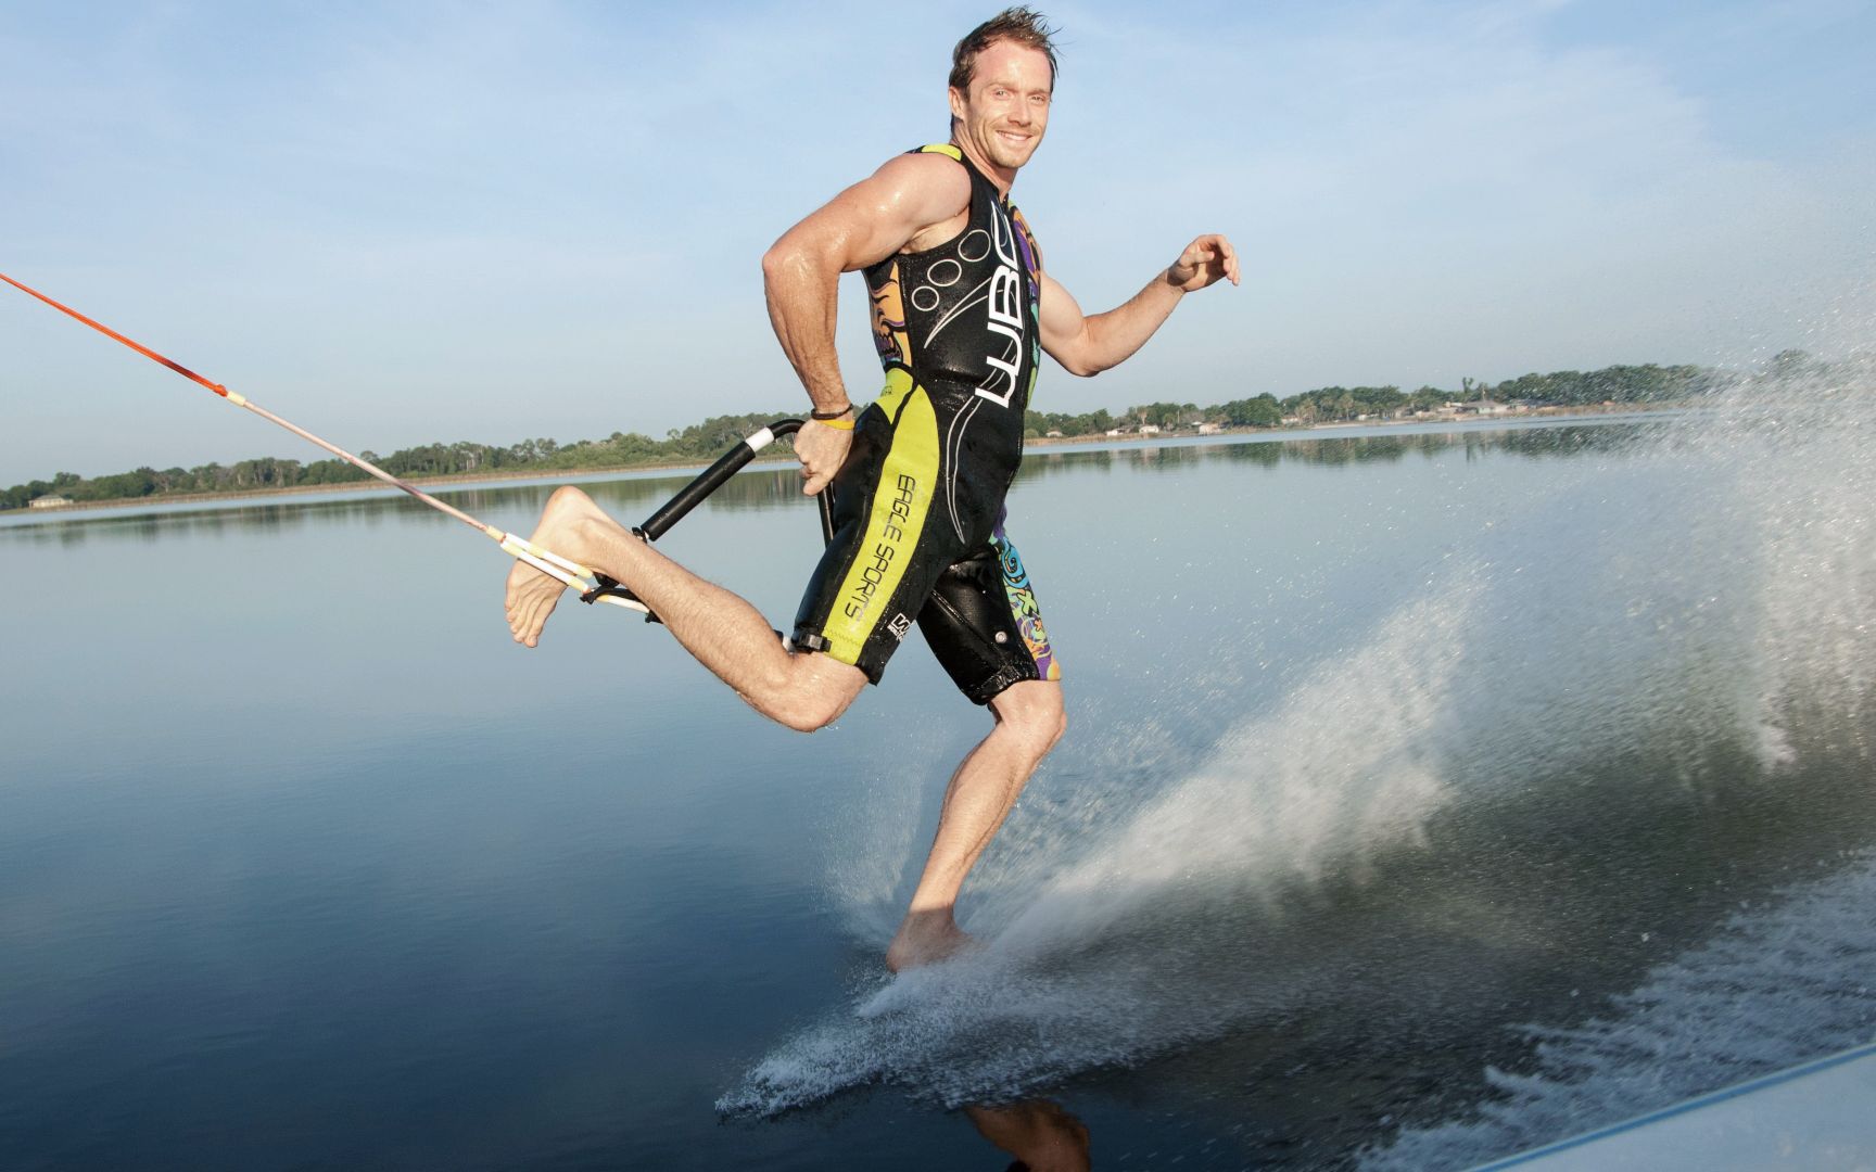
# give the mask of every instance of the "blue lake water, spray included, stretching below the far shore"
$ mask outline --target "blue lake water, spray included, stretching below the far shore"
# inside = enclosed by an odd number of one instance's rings
[[[1868,1041],[1852,383],[1034,452],[1071,729],[897,983],[989,726],[917,639],[799,737],[403,497],[0,527],[0,1166],[1443,1168]],[[782,626],[816,523],[660,548]]]

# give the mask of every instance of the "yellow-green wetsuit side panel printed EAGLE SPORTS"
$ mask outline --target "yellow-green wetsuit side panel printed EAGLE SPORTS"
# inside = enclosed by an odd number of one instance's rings
[[[906,566],[925,531],[925,514],[938,486],[938,413],[912,375],[895,369],[885,379],[880,407],[893,418],[893,399],[904,399],[893,426],[893,446],[880,467],[880,486],[867,514],[867,536],[848,566],[822,636],[827,654],[859,664],[867,638],[885,617]],[[923,600],[921,600],[923,604]]]

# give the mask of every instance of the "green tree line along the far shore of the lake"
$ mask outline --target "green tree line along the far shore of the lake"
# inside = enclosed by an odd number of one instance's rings
[[[1780,358],[1784,358],[1780,354]],[[1154,424],[1161,429],[1189,428],[1210,422],[1229,428],[1279,428],[1287,420],[1323,424],[1360,416],[1386,416],[1396,411],[1437,411],[1458,399],[1491,399],[1497,403],[1529,403],[1555,407],[1583,407],[1593,403],[1677,403],[1700,398],[1717,384],[1717,371],[1698,366],[1610,366],[1596,371],[1553,371],[1548,375],[1520,375],[1488,384],[1465,379],[1458,394],[1437,386],[1403,392],[1399,386],[1321,386],[1278,399],[1259,394],[1199,407],[1197,403],[1142,403],[1122,413],[1090,411],[1030,411],[1024,429],[1030,437],[1052,431],[1062,435],[1105,435],[1111,429]],[[672,429],[664,439],[638,431],[613,431],[606,439],[582,439],[559,444],[552,439],[525,439],[518,444],[495,446],[480,443],[433,443],[403,448],[390,456],[360,452],[360,456],[394,476],[460,476],[501,473],[604,471],[628,465],[698,463],[715,459],[735,441],[764,424],[784,418],[786,411],[760,414],[719,414]],[[51,480],[30,480],[0,491],[0,508],[24,508],[36,497],[56,493],[68,501],[135,501],[146,497],[184,497],[201,493],[240,493],[276,488],[323,488],[370,480],[341,459],[278,459],[272,456],[238,463],[204,463],[193,469],[139,467],[109,476],[79,476],[56,473]]]

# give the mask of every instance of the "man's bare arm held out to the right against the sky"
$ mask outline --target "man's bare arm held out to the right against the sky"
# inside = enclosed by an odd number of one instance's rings
[[[1071,375],[1097,375],[1146,345],[1182,296],[1225,279],[1238,283],[1238,253],[1219,234],[1199,236],[1146,289],[1124,306],[1092,317],[1084,317],[1067,289],[1043,274],[1043,349]]]

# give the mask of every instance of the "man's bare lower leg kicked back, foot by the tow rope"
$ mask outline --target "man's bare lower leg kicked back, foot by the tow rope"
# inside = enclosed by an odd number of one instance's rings
[[[833,656],[790,653],[756,608],[638,540],[576,488],[555,489],[529,540],[628,585],[685,651],[788,728],[812,731],[833,722],[867,683],[859,668]],[[565,591],[540,570],[514,564],[507,609],[516,643],[540,643]]]

